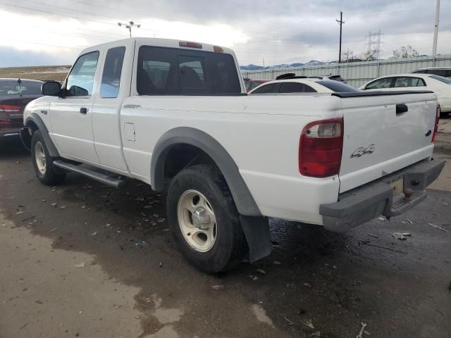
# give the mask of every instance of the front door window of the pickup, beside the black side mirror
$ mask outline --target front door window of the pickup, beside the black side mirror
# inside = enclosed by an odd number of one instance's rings
[[[94,87],[99,52],[80,56],[75,62],[66,82],[66,96],[90,96]]]

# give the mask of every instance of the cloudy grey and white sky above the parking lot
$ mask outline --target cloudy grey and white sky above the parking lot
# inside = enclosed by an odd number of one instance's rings
[[[435,0],[0,0],[0,67],[69,65],[87,46],[133,36],[227,46],[240,65],[338,59],[381,30],[382,58],[410,44],[431,55]],[[451,0],[441,0],[438,54],[451,54]]]

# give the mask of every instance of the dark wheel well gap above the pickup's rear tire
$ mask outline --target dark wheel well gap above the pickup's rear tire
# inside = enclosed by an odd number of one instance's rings
[[[168,151],[164,163],[164,178],[171,180],[184,168],[196,164],[210,164],[217,167],[213,159],[197,146],[191,144],[175,144]]]

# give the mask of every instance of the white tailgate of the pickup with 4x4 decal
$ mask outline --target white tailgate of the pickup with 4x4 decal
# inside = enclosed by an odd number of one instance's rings
[[[436,106],[427,92],[343,98],[340,193],[431,156]]]

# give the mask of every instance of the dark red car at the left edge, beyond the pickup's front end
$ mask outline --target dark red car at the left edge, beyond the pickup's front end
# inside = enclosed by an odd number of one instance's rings
[[[37,80],[0,79],[0,139],[19,137],[23,127],[23,109],[42,96]]]

